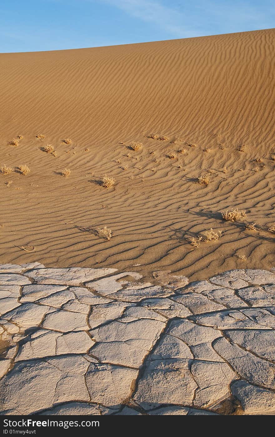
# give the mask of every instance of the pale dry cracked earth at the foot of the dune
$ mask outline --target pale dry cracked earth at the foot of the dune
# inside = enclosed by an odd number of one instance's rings
[[[1,414],[275,414],[275,273],[0,266]]]

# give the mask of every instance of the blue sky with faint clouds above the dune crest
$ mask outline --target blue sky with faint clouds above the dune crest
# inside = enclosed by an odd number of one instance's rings
[[[2,0],[0,52],[189,38],[274,23],[274,0]]]

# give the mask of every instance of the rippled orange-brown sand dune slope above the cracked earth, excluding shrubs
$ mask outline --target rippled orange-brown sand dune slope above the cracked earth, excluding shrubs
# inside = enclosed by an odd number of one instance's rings
[[[274,266],[274,37],[1,54],[0,167],[14,170],[0,174],[0,262],[140,264],[193,279]],[[105,173],[114,186],[98,182]],[[224,221],[236,207],[246,217]],[[109,241],[95,231],[104,225]],[[190,244],[210,228],[216,242]]]

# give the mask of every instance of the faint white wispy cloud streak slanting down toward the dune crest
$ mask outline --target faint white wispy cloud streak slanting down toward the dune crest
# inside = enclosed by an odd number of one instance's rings
[[[160,26],[175,38],[198,36],[197,29],[184,24],[184,14],[176,7],[166,6],[160,1],[148,0],[103,0],[126,12],[129,16],[139,18]]]

